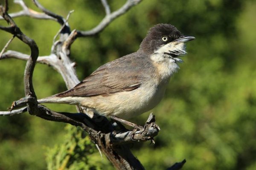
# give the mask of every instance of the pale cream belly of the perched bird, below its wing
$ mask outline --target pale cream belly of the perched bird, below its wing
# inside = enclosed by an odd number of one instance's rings
[[[167,82],[160,85],[144,85],[134,91],[123,91],[109,96],[94,96],[81,101],[84,107],[94,108],[104,116],[128,119],[154,108],[166,90]]]

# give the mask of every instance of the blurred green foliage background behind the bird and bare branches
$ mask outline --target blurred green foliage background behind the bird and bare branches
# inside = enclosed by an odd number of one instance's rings
[[[112,11],[125,3],[109,1]],[[33,6],[30,0],[25,2]],[[72,29],[93,28],[105,15],[100,0],[40,2],[62,16],[75,9],[69,20]],[[20,6],[10,1],[10,12],[18,10]],[[29,17],[15,18],[15,22],[38,43],[40,56],[49,54],[52,38],[60,28],[57,23]],[[157,23],[171,23],[196,40],[188,42],[185,62],[172,77],[165,98],[152,110],[161,127],[156,144],[132,145],[135,156],[149,170],[165,169],[184,158],[184,170],[255,170],[256,1],[143,0],[99,36],[76,40],[71,57],[78,64],[79,78],[137,51],[148,28]],[[0,24],[6,25],[4,21]],[[1,48],[10,37],[0,31]],[[29,54],[29,48],[17,39],[8,49]],[[24,68],[24,61],[0,61],[1,111],[23,97]],[[35,68],[34,86],[38,98],[66,89],[61,76],[41,64]],[[76,111],[69,105],[47,106],[56,111]],[[131,121],[143,125],[148,113]],[[90,139],[81,135],[78,140],[81,132],[74,134],[76,129],[72,128],[28,113],[1,116],[0,170],[56,169],[67,155],[71,159],[66,169],[113,169]],[[77,150],[86,151],[85,155],[70,151],[75,143]],[[67,150],[70,153],[65,153]]]

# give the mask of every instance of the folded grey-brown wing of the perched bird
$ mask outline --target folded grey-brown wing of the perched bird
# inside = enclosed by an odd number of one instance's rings
[[[74,88],[57,96],[108,95],[139,88],[145,77],[140,74],[136,67],[131,65],[132,62],[126,62],[126,65],[115,62],[113,61],[111,65],[109,63],[103,65]]]

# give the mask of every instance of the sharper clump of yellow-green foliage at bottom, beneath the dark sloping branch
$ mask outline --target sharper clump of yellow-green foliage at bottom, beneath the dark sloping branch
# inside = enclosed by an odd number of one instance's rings
[[[81,128],[66,126],[67,134],[61,145],[47,149],[48,170],[99,170],[101,160],[92,154],[96,151],[94,144]],[[97,151],[96,151],[97,152]]]

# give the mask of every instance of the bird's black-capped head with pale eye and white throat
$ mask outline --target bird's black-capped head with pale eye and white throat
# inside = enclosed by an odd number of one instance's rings
[[[179,56],[186,54],[184,42],[195,37],[184,36],[171,24],[157,24],[150,28],[147,36],[140,44],[143,53],[152,56],[157,62],[181,62]]]

